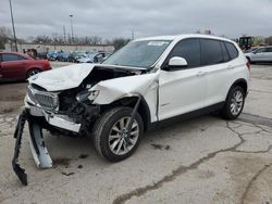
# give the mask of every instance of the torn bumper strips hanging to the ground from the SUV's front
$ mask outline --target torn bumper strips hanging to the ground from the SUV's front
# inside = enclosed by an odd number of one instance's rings
[[[28,122],[28,127],[29,127],[30,150],[37,167],[38,168],[52,167],[52,160],[45,145],[41,128],[37,123],[35,123],[35,120],[28,114],[27,110],[24,110],[20,114],[17,126],[14,132],[14,138],[16,139],[16,142],[14,149],[14,156],[12,160],[13,170],[24,186],[27,186],[27,175],[25,174],[25,169],[21,168],[21,166],[18,165],[18,156],[20,156],[22,137],[26,120]]]

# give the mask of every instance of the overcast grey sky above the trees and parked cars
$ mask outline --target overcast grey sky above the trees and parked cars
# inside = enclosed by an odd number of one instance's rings
[[[0,3],[0,26],[11,28],[9,0]],[[102,38],[213,34],[272,36],[272,0],[12,0],[16,34],[71,34]]]

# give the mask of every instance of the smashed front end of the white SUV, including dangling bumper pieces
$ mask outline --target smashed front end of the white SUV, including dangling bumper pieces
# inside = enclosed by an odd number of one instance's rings
[[[27,176],[18,165],[18,154],[26,120],[37,167],[51,168],[52,160],[42,139],[42,129],[73,137],[89,137],[92,125],[104,109],[122,98],[144,95],[158,77],[154,73],[143,77],[145,71],[139,69],[86,66],[62,67],[29,79],[25,110],[14,133],[16,145],[12,161],[13,169],[23,184],[27,184]]]

